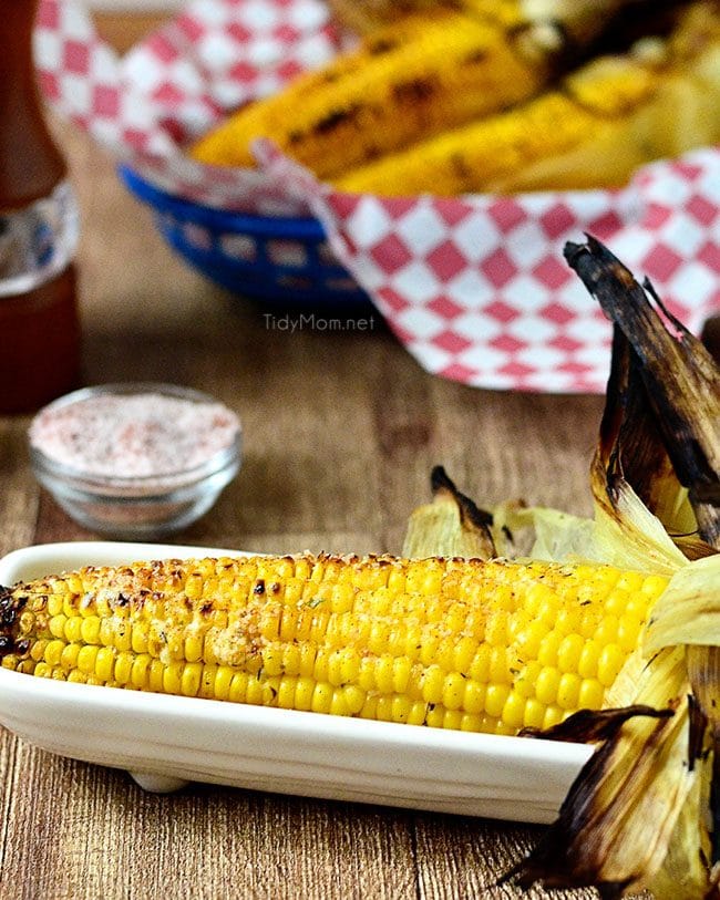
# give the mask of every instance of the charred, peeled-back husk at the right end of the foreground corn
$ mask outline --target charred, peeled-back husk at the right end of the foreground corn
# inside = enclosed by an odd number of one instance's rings
[[[672,576],[607,692],[609,707],[632,704],[603,714],[615,727],[594,735],[588,714],[543,733],[600,746],[513,875],[594,886],[608,900],[641,889],[710,900],[720,896],[720,371],[597,240],[565,256],[615,325],[586,537],[607,559],[627,560],[629,548]]]

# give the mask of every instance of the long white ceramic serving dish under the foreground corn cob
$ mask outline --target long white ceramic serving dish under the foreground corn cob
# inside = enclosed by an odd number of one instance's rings
[[[82,565],[237,551],[48,544],[0,560],[0,585]],[[127,769],[144,788],[187,782],[548,823],[592,748],[35,679],[0,669],[0,723],[44,749]]]

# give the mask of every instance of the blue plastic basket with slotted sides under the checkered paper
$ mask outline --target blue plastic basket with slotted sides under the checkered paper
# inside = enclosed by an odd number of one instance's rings
[[[169,246],[234,293],[282,306],[370,302],[333,257],[317,219],[212,209],[167,194],[128,166],[119,172],[126,187],[155,211]]]

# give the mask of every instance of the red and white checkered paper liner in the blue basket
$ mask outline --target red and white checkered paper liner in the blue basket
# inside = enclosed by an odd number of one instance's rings
[[[59,112],[171,193],[317,216],[338,259],[428,371],[491,389],[601,392],[610,327],[562,256],[590,232],[698,332],[720,310],[720,148],[639,170],[621,190],[459,199],[347,195],[258,144],[258,170],[179,149],[226,111],[341,45],[321,0],[194,0],[122,60],[81,0],[41,0],[41,84]]]

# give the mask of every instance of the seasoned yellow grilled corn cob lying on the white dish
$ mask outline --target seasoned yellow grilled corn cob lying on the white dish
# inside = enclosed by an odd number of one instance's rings
[[[2,665],[474,732],[599,708],[667,580],[611,567],[249,557],[6,590]]]

